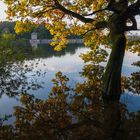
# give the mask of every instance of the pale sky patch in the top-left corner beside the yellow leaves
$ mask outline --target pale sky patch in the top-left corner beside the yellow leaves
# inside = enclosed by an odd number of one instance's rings
[[[3,2],[0,2],[0,21],[6,20],[6,5]]]

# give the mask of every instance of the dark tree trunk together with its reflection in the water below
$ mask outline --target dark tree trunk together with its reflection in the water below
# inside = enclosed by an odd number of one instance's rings
[[[126,47],[124,21],[113,15],[110,21],[112,51],[105,69],[103,80],[104,138],[115,140],[121,125],[120,95],[121,70]]]

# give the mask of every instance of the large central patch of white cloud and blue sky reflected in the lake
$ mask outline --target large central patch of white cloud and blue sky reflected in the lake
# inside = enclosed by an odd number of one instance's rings
[[[39,64],[34,70],[41,69],[42,72],[46,72],[46,76],[43,77],[43,81],[45,83],[44,88],[31,92],[36,94],[38,98],[46,98],[47,94],[51,91],[51,87],[53,86],[51,80],[55,77],[55,73],[58,71],[61,71],[63,75],[67,75],[69,77],[70,81],[68,84],[70,86],[74,86],[77,82],[80,82],[82,78],[80,77],[79,72],[82,70],[84,63],[79,55],[86,51],[87,49],[81,48],[78,49],[74,55],[66,54],[65,56],[61,57],[40,59],[38,62]]]

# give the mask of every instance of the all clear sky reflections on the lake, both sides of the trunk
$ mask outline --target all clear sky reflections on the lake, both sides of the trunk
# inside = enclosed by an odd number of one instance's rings
[[[37,91],[30,91],[30,93],[33,93],[36,97],[41,99],[47,98],[47,95],[51,91],[51,87],[53,86],[51,79],[54,78],[55,73],[58,71],[63,72],[63,74],[66,74],[69,77],[69,85],[71,86],[74,86],[75,83],[82,81],[79,72],[82,71],[84,63],[79,55],[80,53],[86,51],[86,48],[79,48],[73,55],[66,54],[65,56],[61,57],[53,56],[46,59],[44,58],[35,59],[33,61],[26,61],[25,64],[28,64],[29,66],[32,65],[33,71],[41,70],[42,72],[46,72],[45,75],[39,78],[37,77],[37,82],[44,82],[43,88]],[[130,75],[131,72],[137,71],[137,67],[131,66],[131,64],[137,60],[137,55],[126,52],[122,73],[125,75]],[[30,78],[31,75],[32,73],[27,74],[27,76]],[[128,104],[128,108],[131,111],[140,109],[140,96],[125,94],[125,96],[121,100]],[[13,106],[15,105],[18,105],[17,99],[9,99],[6,95],[3,95],[0,100],[1,114],[9,114],[9,112],[12,112]]]

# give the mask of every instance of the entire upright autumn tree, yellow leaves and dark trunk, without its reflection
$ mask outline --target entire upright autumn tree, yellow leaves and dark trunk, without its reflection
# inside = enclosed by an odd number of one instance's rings
[[[125,32],[138,30],[135,16],[140,14],[139,0],[4,2],[8,6],[9,18],[16,17],[22,20],[17,22],[17,32],[29,30],[33,22],[44,22],[54,35],[51,45],[55,46],[56,50],[62,49],[68,43],[67,36],[70,34],[84,36],[85,45],[91,46],[92,49],[111,42],[112,51],[104,72],[102,93],[104,100],[119,100],[121,68],[126,48]]]

